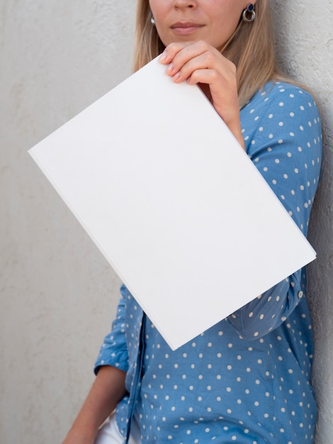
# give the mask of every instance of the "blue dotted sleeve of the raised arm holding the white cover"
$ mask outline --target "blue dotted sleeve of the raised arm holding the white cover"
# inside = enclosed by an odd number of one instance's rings
[[[248,155],[306,235],[320,177],[322,134],[317,106],[306,91],[286,84],[264,91],[257,102],[244,110]],[[286,321],[304,292],[305,270],[298,270],[235,311],[228,321],[242,338],[260,338]]]

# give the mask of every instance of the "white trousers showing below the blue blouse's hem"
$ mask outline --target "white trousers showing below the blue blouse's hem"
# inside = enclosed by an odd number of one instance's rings
[[[121,435],[117,421],[115,421],[115,414],[111,415],[103,426],[99,429],[95,444],[123,444],[124,437]],[[140,427],[132,418],[130,440],[128,444],[141,444]]]

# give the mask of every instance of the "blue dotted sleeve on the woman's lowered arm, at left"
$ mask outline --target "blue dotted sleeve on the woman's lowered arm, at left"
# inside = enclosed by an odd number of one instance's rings
[[[106,335],[95,362],[94,372],[103,365],[112,365],[124,372],[128,371],[128,350],[125,336],[125,286],[120,287],[122,297],[118,304],[117,315],[112,323],[111,333]]]

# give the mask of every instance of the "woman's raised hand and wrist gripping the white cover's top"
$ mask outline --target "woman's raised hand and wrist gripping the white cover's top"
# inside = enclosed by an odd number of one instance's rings
[[[159,62],[166,67],[166,74],[175,83],[186,80],[188,84],[200,84],[228,128],[244,148],[239,121],[236,67],[204,41],[196,43],[171,43]]]

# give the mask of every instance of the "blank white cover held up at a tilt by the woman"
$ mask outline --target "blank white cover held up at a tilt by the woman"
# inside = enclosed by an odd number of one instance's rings
[[[164,70],[29,152],[174,350],[315,252],[201,90]]]

